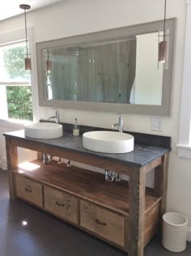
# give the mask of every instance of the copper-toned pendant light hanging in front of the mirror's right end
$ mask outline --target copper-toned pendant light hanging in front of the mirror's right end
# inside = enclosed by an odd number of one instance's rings
[[[163,19],[163,41],[159,42],[159,62],[168,62],[168,34],[166,34],[166,8],[167,0],[164,0],[164,19]],[[160,36],[160,35],[159,35]]]

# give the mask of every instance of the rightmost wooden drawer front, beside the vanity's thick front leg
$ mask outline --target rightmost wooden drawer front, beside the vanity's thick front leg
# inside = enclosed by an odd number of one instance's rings
[[[80,201],[81,226],[117,245],[124,246],[125,218]]]

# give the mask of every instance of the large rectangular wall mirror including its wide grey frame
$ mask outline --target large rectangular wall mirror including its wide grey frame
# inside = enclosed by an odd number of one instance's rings
[[[175,19],[167,28],[165,65],[163,21],[37,43],[40,105],[169,116]]]

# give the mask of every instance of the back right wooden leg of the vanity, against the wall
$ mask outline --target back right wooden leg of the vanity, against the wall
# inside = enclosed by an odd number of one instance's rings
[[[162,156],[162,163],[155,168],[155,186],[154,192],[158,197],[162,197],[160,208],[160,220],[167,207],[167,191],[168,191],[168,158],[169,154]]]

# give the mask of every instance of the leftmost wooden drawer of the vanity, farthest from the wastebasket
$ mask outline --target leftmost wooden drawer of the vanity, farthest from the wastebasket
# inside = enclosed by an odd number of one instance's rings
[[[15,175],[16,196],[42,207],[42,186],[36,181]]]

